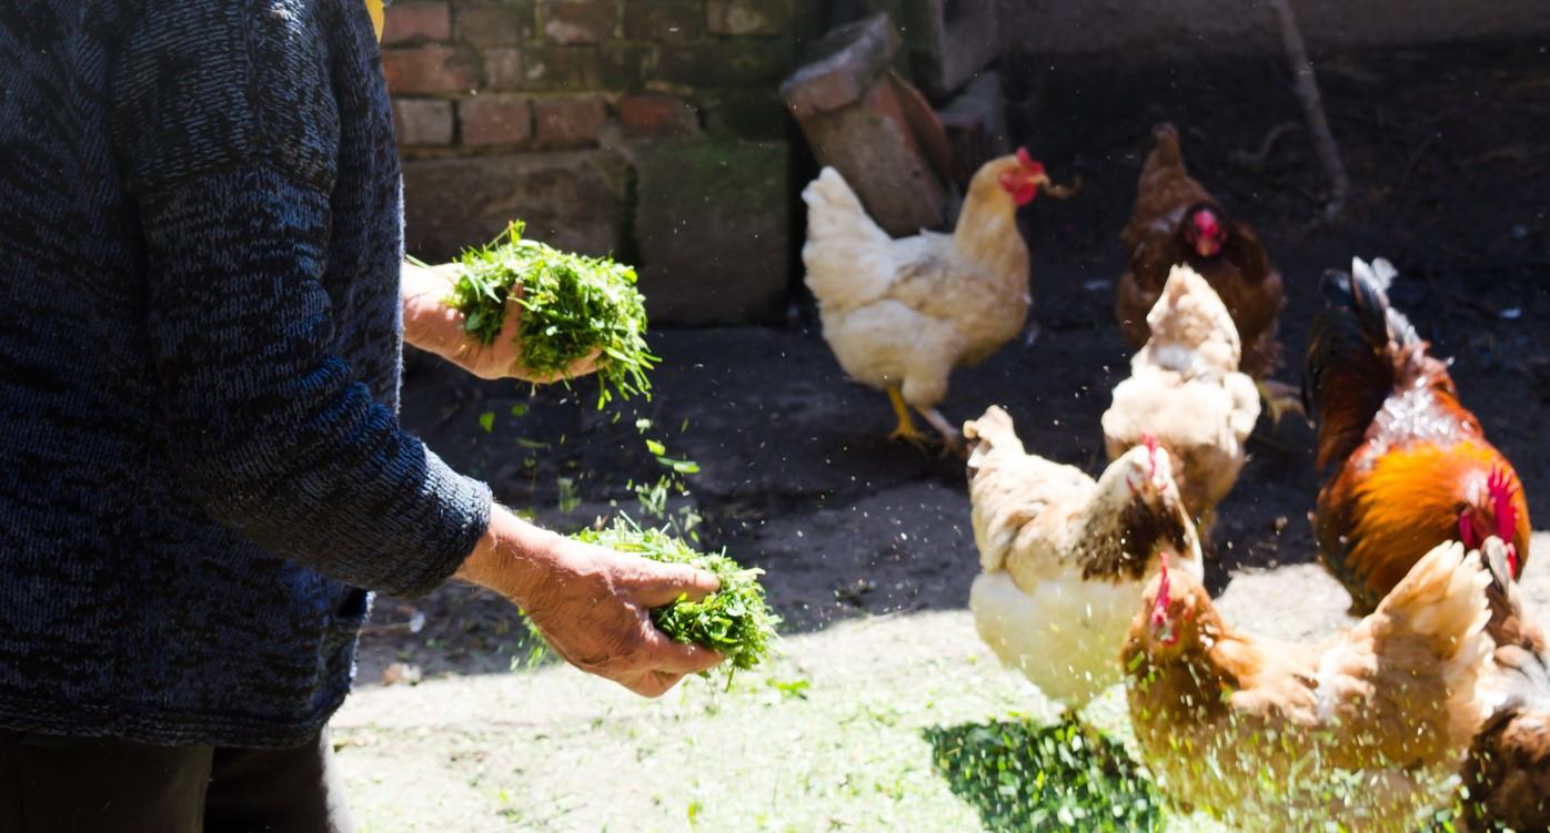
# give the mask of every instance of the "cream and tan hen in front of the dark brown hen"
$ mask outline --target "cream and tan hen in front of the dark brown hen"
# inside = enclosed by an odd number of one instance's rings
[[[1221,299],[1189,266],[1173,266],[1147,314],[1150,338],[1104,412],[1110,460],[1152,435],[1178,463],[1184,506],[1211,540],[1211,519],[1243,471],[1259,420],[1254,379],[1238,372],[1238,331]]]

